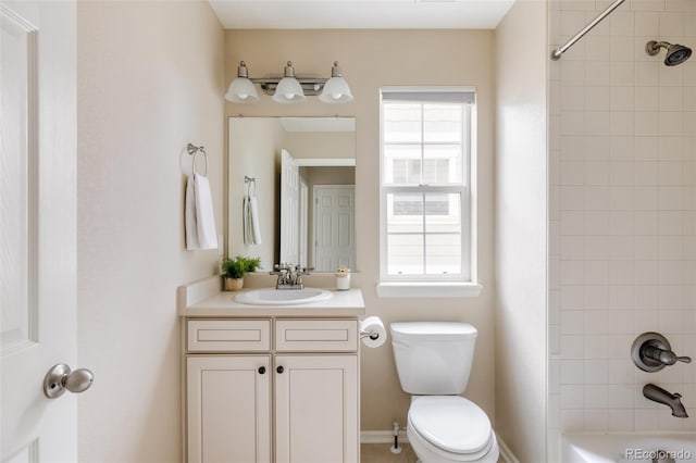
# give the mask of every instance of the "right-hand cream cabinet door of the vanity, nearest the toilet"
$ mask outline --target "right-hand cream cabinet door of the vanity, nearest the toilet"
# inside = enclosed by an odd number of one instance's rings
[[[357,463],[358,355],[276,355],[273,374],[276,462]]]

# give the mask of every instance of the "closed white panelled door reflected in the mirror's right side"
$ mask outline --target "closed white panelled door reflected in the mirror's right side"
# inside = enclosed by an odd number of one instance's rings
[[[356,187],[314,187],[314,270],[356,266]]]

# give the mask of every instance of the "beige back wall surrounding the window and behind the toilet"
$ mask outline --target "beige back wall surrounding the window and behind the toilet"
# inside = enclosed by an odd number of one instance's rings
[[[261,95],[254,105],[226,103],[227,115],[349,115],[357,117],[356,210],[358,268],[368,315],[394,321],[447,320],[480,330],[467,397],[492,416],[494,408],[493,114],[492,30],[226,30],[226,83],[245,60],[252,77],[277,74],[287,60],[296,73],[328,76],[338,60],[355,101],[328,105],[316,97],[299,105],[273,103]],[[378,166],[380,87],[387,85],[475,86],[478,98],[478,275],[473,299],[380,299]],[[238,185],[232,185],[238,188]],[[409,397],[401,391],[390,345],[362,351],[362,429],[386,430],[406,423]]]

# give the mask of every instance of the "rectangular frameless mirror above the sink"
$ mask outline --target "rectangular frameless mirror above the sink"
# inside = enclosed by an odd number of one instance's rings
[[[355,270],[355,117],[229,117],[228,254]]]

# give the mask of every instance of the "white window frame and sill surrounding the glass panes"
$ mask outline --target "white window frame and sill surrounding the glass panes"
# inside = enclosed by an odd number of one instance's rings
[[[467,121],[464,121],[463,138],[463,160],[462,160],[462,178],[459,184],[452,185],[385,185],[385,175],[387,173],[385,158],[385,93],[409,93],[419,95],[421,100],[405,99],[403,101],[412,101],[413,103],[442,103],[447,102],[443,99],[443,93],[471,93],[473,101],[467,103],[464,101],[450,101],[452,103],[461,102],[462,110]],[[431,96],[436,97],[428,100]],[[476,234],[475,234],[475,158],[476,158],[476,93],[473,87],[383,87],[380,93],[380,285],[377,292],[381,297],[398,296],[398,297],[418,297],[421,296],[422,289],[433,289],[425,291],[423,296],[477,296],[482,289],[476,283]],[[423,146],[424,140],[417,145]],[[426,193],[459,193],[461,199],[461,274],[406,274],[395,275],[388,274],[387,258],[387,222],[388,222],[388,195],[396,192],[409,192],[414,195]],[[425,202],[423,203],[425,208]],[[425,215],[424,215],[425,220]],[[427,233],[423,235],[425,240]],[[432,235],[431,235],[432,236]],[[395,289],[395,291],[387,290]],[[414,290],[415,289],[415,290]],[[453,289],[453,291],[452,291]],[[463,289],[460,291],[458,289]]]

